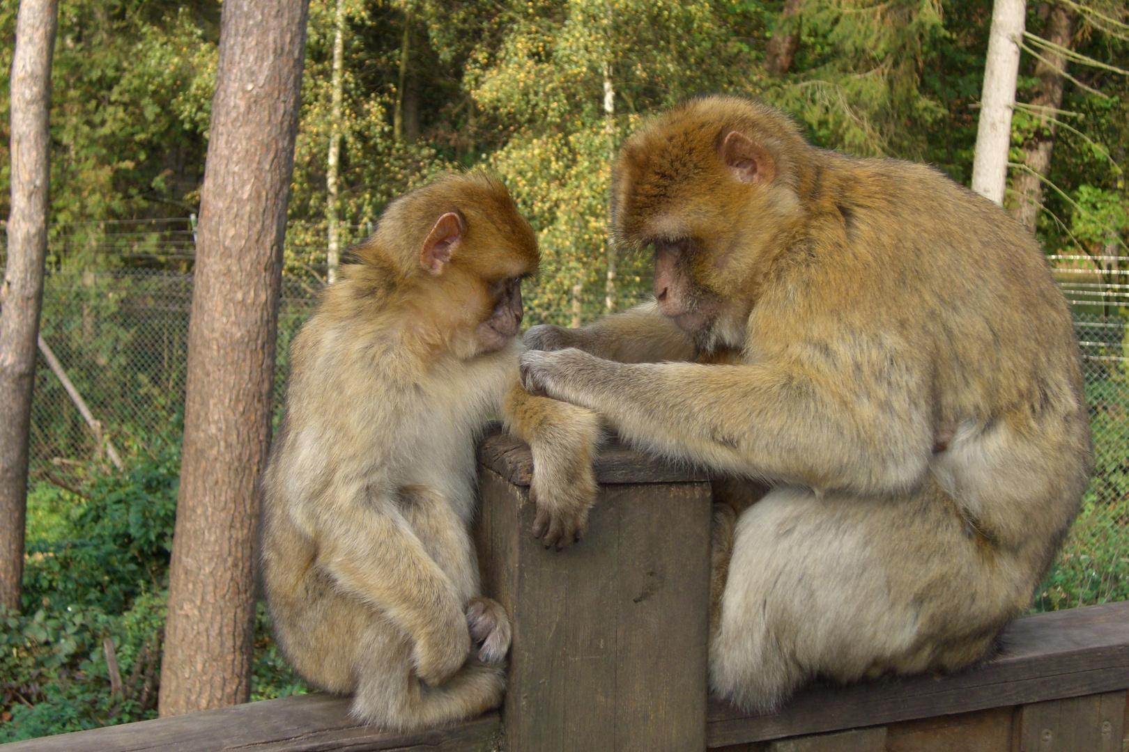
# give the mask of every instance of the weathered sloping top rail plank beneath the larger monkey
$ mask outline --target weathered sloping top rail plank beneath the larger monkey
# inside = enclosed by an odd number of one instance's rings
[[[968,713],[1129,688],[1129,602],[1024,617],[997,658],[951,676],[816,685],[779,713],[711,702],[709,746]]]

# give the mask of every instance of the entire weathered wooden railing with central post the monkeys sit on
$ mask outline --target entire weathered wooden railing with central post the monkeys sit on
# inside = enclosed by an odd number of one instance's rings
[[[1016,620],[991,661],[948,676],[811,687],[750,716],[706,689],[710,487],[618,444],[597,460],[585,540],[528,533],[532,459],[480,448],[483,587],[514,622],[500,714],[415,734],[357,724],[306,695],[5,745],[5,752],[1122,752],[1129,603]]]

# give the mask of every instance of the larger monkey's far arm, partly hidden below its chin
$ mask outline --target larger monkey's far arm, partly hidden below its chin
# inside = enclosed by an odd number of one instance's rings
[[[525,333],[530,350],[578,347],[596,357],[620,363],[692,361],[694,346],[654,302],[607,316],[583,329],[542,325]]]

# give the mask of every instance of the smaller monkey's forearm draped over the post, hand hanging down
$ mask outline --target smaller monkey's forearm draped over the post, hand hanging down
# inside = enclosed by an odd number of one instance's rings
[[[533,451],[533,536],[558,549],[579,540],[596,502],[592,455],[601,440],[589,409],[528,393],[515,383],[502,400],[506,428]]]

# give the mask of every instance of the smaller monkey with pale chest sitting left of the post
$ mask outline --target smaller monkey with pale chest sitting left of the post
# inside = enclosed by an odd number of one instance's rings
[[[450,175],[396,200],[290,348],[263,478],[262,561],[290,664],[393,729],[497,707],[509,620],[480,595],[474,445],[501,409],[533,448],[535,533],[583,533],[592,412],[517,379],[537,245],[509,193]],[[475,649],[472,649],[472,644]]]

